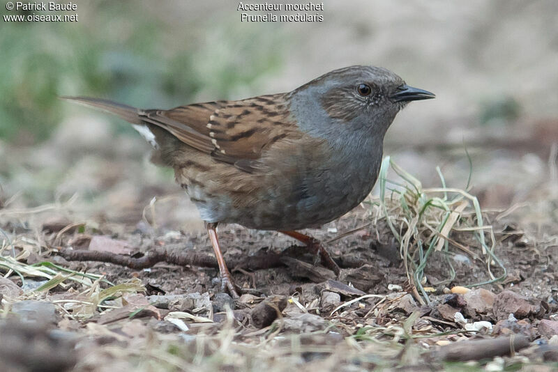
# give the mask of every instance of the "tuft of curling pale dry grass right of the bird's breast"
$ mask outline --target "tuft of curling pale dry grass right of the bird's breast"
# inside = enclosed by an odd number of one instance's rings
[[[400,179],[388,180],[389,169]],[[490,279],[469,286],[487,284],[506,276],[506,269],[494,254],[494,231],[492,226],[484,225],[483,211],[478,199],[464,189],[446,187],[442,171],[437,171],[442,180],[442,187],[423,188],[420,180],[395,164],[390,157],[386,157],[379,173],[380,198],[379,201],[371,203],[372,216],[376,220],[386,219],[391,233],[399,242],[407,277],[427,303],[430,300],[423,288],[424,269],[433,252],[446,253],[450,277],[445,281],[451,281],[455,277],[455,270],[448,258],[449,247],[455,241],[451,238],[453,232],[470,233],[481,250],[480,254],[474,254],[472,257],[483,257],[487,267]],[[388,183],[398,187],[389,189]],[[472,253],[472,248],[462,248],[458,247]],[[498,277],[492,273],[492,263],[499,267]],[[421,298],[418,300],[423,302]]]

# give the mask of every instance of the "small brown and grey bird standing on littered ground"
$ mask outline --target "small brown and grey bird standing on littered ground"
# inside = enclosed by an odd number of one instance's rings
[[[62,97],[115,114],[174,169],[213,246],[221,290],[239,295],[218,240],[218,224],[280,231],[322,263],[340,268],[322,244],[299,232],[349,212],[370,194],[384,135],[409,102],[435,98],[386,68],[352,65],[287,93],[138,109],[110,100]]]

